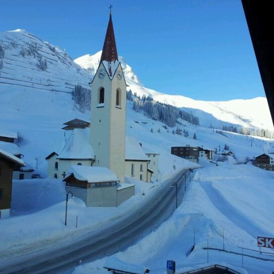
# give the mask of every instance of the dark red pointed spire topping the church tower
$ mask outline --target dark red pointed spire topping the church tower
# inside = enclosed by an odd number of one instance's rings
[[[118,61],[118,54],[116,49],[111,13],[106,38],[104,42],[104,47],[102,49],[101,61]]]

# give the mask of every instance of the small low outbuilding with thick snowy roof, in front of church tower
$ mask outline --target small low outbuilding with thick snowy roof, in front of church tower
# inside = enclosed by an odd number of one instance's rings
[[[72,165],[64,178],[66,191],[82,199],[86,207],[117,207],[134,195],[134,184],[120,184],[107,167]]]

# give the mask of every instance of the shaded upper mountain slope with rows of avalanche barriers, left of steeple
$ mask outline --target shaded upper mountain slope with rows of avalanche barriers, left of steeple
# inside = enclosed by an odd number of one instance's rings
[[[89,82],[87,71],[59,47],[23,29],[0,33],[1,85],[71,92],[77,84],[88,88]]]

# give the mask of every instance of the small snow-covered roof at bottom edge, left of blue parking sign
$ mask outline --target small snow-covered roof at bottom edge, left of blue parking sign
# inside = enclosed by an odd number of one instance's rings
[[[126,263],[114,257],[109,257],[106,260],[104,264],[104,268],[112,269],[112,270],[120,270],[120,271],[129,272],[129,273],[136,273],[136,274],[149,273],[150,271],[150,269],[144,265]]]

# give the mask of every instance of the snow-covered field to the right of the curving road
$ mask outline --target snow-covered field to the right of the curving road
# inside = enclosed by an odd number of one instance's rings
[[[273,178],[274,172],[249,164],[224,163],[198,169],[182,204],[172,217],[140,242],[112,257],[145,265],[151,273],[159,274],[166,273],[168,259],[176,261],[177,271],[217,263],[241,273],[269,273],[273,269],[273,261],[243,256],[242,268],[241,255],[209,250],[208,263],[207,250],[203,248],[209,241],[210,248],[222,250],[224,232],[225,250],[239,254],[242,253],[241,247],[259,250],[257,235],[271,236],[274,226],[272,215],[269,216],[269,208],[274,203],[271,198]],[[195,248],[188,255],[194,243],[194,229]],[[266,248],[262,251],[271,252]],[[248,250],[244,250],[244,254],[273,259]],[[103,258],[78,266],[74,274],[107,273],[102,268],[105,261],[106,258]]]

